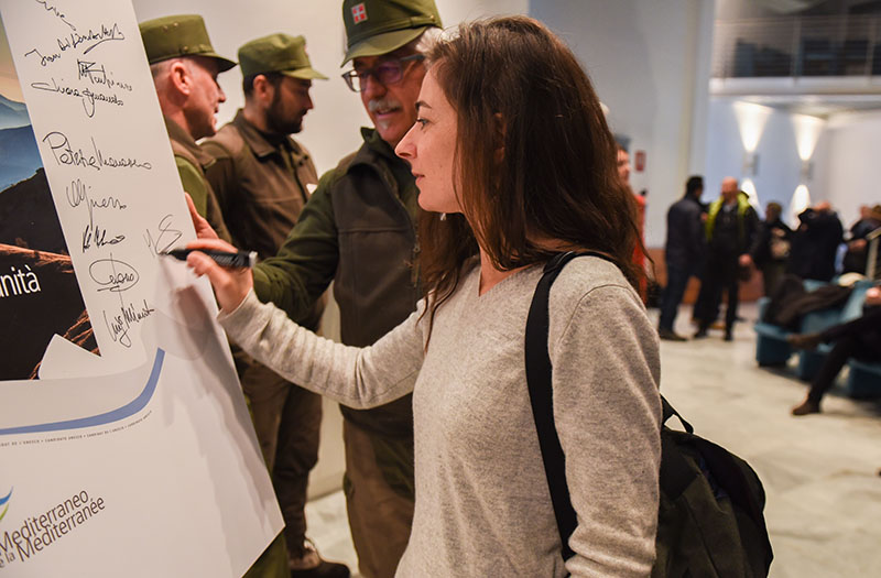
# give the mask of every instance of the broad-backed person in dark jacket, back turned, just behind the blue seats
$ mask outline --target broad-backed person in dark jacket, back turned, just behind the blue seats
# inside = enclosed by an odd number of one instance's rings
[[[792,239],[786,273],[802,279],[830,281],[835,258],[844,240],[844,227],[828,203],[820,203],[798,215],[798,229]]]

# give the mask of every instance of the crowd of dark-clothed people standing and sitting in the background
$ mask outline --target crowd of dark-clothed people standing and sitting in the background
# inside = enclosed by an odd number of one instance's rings
[[[748,195],[738,182],[726,177],[721,195],[710,204],[700,196],[704,181],[692,176],[685,195],[667,211],[665,244],[666,286],[661,295],[657,334],[661,339],[686,341],[674,330],[674,321],[688,280],[700,280],[700,291],[694,305],[695,338],[707,336],[719,314],[721,294],[726,293],[725,340],[732,340],[740,285],[758,272],[762,276],[764,296],[770,298],[768,318],[780,318],[776,308],[792,308],[792,291],[806,294],[804,281],[829,283],[838,275],[847,283],[864,277],[877,280],[881,270],[881,251],[872,239],[881,233],[881,205],[860,207],[860,218],[845,232],[838,215],[827,201],[806,208],[798,223],[791,229],[782,219],[783,207],[771,201],[760,221]],[[855,276],[856,275],[856,276]],[[849,287],[827,287],[829,304],[847,297]],[[815,302],[817,298],[808,299]],[[787,303],[788,302],[788,303]],[[788,312],[787,313],[792,313]],[[866,293],[862,316],[829,327],[824,331],[788,336],[796,349],[814,350],[828,343],[828,355],[812,380],[806,399],[792,408],[792,414],[819,413],[823,395],[833,386],[845,363],[853,358],[864,361],[881,359],[881,288]],[[776,316],[776,317],[775,317]]]

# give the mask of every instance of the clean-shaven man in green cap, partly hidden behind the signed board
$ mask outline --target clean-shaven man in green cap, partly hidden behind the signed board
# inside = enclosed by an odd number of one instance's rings
[[[215,133],[215,114],[227,99],[217,75],[236,63],[214,51],[199,15],[157,18],[142,22],[140,29],[184,190],[218,235],[228,239],[217,199],[205,181],[205,167],[213,159],[196,140]]]

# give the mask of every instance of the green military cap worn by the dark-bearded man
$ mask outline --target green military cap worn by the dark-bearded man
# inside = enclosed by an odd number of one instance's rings
[[[239,48],[239,66],[242,76],[282,73],[304,80],[327,80],[325,75],[312,67],[303,36],[270,34],[252,40]]]

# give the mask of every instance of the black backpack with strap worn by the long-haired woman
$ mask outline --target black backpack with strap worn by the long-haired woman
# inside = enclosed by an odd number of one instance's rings
[[[544,268],[526,320],[526,381],[564,559],[573,555],[568,538],[575,531],[576,516],[554,425],[547,299],[563,266],[579,254],[611,261],[592,252],[554,257]],[[759,477],[739,457],[694,435],[692,426],[663,396],[661,402],[661,505],[652,577],[768,576],[773,553],[762,514],[765,498]],[[665,425],[673,415],[685,432]]]

